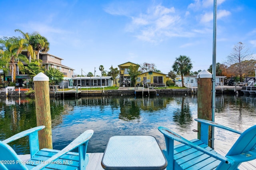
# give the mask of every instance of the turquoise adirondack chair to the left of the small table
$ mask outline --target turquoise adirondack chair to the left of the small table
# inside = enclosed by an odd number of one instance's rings
[[[86,169],[89,161],[86,149],[93,130],[86,130],[62,150],[47,148],[39,150],[38,131],[43,128],[44,126],[30,128],[0,141],[0,170]],[[7,144],[24,136],[29,136],[30,146],[30,160],[26,162],[22,162],[12,147]],[[79,153],[70,152],[77,147]]]

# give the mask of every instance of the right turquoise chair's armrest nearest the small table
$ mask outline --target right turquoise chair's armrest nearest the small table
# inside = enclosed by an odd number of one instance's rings
[[[164,136],[172,139],[172,140],[176,140],[180,143],[183,143],[183,144],[186,144],[192,148],[195,148],[196,150],[199,150],[205,154],[208,154],[209,156],[212,156],[218,160],[221,160],[222,162],[225,162],[226,164],[230,164],[230,165],[233,165],[234,164],[234,160],[230,159],[230,158],[227,158],[225,156],[222,156],[220,154],[217,154],[215,152],[211,152],[209,150],[206,150],[205,148],[202,148],[196,144],[194,144],[193,142],[190,142],[189,140],[183,138],[182,136],[176,134],[175,132],[172,132],[171,130],[169,130],[168,128],[165,128],[165,127],[158,127],[158,130],[164,134]],[[167,145],[167,144],[166,144]]]

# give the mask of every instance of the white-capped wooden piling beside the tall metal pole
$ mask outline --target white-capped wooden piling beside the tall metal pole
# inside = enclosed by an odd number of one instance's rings
[[[204,70],[197,76],[198,80],[198,118],[211,121],[212,118],[212,74]],[[208,135],[208,145],[210,145],[210,128]],[[201,123],[198,123],[198,139],[201,135]]]

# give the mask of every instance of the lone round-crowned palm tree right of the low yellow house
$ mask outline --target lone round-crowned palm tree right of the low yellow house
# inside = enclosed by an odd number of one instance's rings
[[[175,58],[174,64],[172,65],[173,71],[176,71],[177,74],[181,75],[181,82],[182,87],[184,86],[184,75],[189,75],[190,70],[193,68],[191,59],[187,57],[186,55],[180,55],[179,57]]]

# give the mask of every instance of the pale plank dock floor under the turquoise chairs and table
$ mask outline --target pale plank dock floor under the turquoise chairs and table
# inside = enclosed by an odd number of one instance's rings
[[[226,151],[224,150],[216,150],[222,156],[226,155]],[[103,157],[103,153],[88,153],[89,163],[86,166],[86,170],[104,170],[101,166],[101,160]],[[19,155],[21,160],[26,161],[30,159],[30,154]],[[251,160],[249,162],[243,162],[239,167],[240,170],[255,170],[256,169],[256,160]]]

